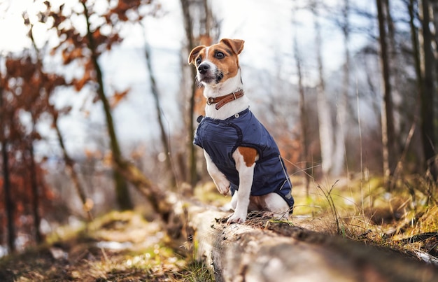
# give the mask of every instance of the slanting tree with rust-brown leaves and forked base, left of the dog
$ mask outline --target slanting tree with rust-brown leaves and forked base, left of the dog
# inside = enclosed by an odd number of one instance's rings
[[[156,211],[162,219],[167,222],[169,220],[169,212],[171,207],[167,202],[166,193],[157,188],[143,173],[134,166],[131,162],[125,160],[120,151],[118,138],[115,133],[113,117],[111,113],[111,106],[104,91],[103,74],[101,66],[99,65],[99,56],[106,50],[111,50],[113,45],[120,43],[120,27],[127,21],[138,22],[143,18],[139,14],[139,7],[148,5],[149,1],[118,1],[114,2],[114,6],[109,5],[104,14],[98,14],[91,5],[91,1],[80,0],[83,10],[80,12],[70,11],[76,15],[85,18],[86,34],[85,37],[80,35],[75,25],[70,21],[70,17],[66,15],[69,13],[68,9],[64,10],[64,5],[59,6],[55,11],[50,6],[48,1],[45,2],[47,6],[47,16],[44,18],[52,19],[52,29],[55,29],[59,34],[61,43],[57,45],[52,52],[62,55],[63,63],[69,65],[71,62],[76,62],[83,66],[84,74],[79,79],[73,79],[73,85],[76,90],[82,89],[84,85],[92,85],[96,89],[95,101],[101,101],[104,108],[106,118],[106,129],[110,139],[111,157],[113,164],[113,176],[115,178],[116,198],[120,209],[131,209],[132,202],[127,190],[127,182],[129,181],[134,187],[141,192],[143,196],[148,199],[154,211]],[[111,8],[113,7],[113,8]],[[89,10],[90,9],[90,10]],[[127,14],[130,16],[128,17]],[[97,21],[90,21],[92,16],[99,18]],[[133,17],[136,15],[136,17]],[[68,24],[64,24],[68,22]],[[107,29],[108,33],[101,32],[101,29]],[[127,92],[127,91],[125,91]],[[123,95],[115,93],[115,96]]]

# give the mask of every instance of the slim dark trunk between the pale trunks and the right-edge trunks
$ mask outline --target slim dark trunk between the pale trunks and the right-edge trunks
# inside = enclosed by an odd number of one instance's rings
[[[395,169],[395,129],[393,117],[393,97],[390,85],[390,66],[388,56],[388,44],[386,42],[386,9],[383,0],[376,0],[377,19],[379,21],[379,43],[381,48],[380,61],[382,68],[383,99],[381,107],[381,127],[383,145],[383,175],[389,188],[390,176]]]

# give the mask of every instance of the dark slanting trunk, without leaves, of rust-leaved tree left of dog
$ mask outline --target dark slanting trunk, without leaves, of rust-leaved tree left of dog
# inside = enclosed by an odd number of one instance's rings
[[[106,98],[106,94],[104,92],[104,81],[102,78],[101,67],[99,65],[99,62],[97,62],[96,45],[94,43],[92,31],[90,30],[90,18],[88,15],[87,5],[85,4],[85,1],[83,1],[82,4],[84,8],[85,20],[87,23],[87,39],[89,44],[88,46],[90,48],[90,51],[92,52],[91,55],[92,62],[94,65],[94,70],[96,71],[97,83],[99,85],[97,89],[97,94],[99,95],[99,99],[102,103],[102,106],[104,107],[106,127],[108,129],[108,135],[110,137],[110,143],[111,143],[111,153],[113,154],[113,160],[122,160],[122,153],[120,151],[118,138],[117,135],[115,134],[113,116],[111,114],[111,107],[108,103],[108,99]],[[132,209],[133,205],[131,198],[129,197],[127,182],[117,169],[113,170],[113,179],[115,182],[115,197],[117,199],[119,208],[121,210]]]

